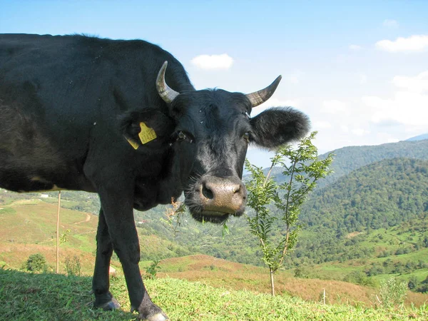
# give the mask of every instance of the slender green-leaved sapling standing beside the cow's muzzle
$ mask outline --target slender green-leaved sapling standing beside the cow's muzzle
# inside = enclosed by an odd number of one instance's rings
[[[331,153],[325,159],[318,159],[317,148],[312,144],[316,135],[317,132],[313,132],[303,138],[296,148],[290,144],[279,148],[267,175],[263,168],[245,161],[245,168],[251,175],[246,184],[248,206],[255,211],[255,215],[248,216],[247,220],[250,232],[259,240],[263,261],[269,267],[272,295],[275,295],[273,275],[297,242],[300,208],[317,180],[332,172],[329,169]],[[286,178],[280,184],[270,177],[272,168],[278,165]],[[277,230],[279,227],[281,229]]]

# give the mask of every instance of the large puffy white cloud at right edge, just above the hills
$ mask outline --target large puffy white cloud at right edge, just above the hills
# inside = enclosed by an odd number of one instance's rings
[[[398,91],[392,98],[364,96],[362,102],[372,110],[371,121],[382,124],[428,127],[428,71],[417,76],[395,76]]]

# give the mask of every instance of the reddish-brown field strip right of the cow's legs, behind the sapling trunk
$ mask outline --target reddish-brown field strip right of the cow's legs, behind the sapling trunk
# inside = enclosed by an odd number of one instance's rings
[[[142,263],[142,270],[148,263]],[[269,270],[263,267],[233,263],[208,255],[190,255],[183,258],[162,260],[159,277],[173,277],[191,282],[204,282],[213,287],[228,290],[249,290],[270,293]],[[355,285],[340,280],[305,279],[293,277],[291,271],[279,271],[275,275],[275,289],[281,295],[291,295],[304,300],[319,301],[326,291],[329,304],[372,306],[379,294],[374,287]],[[407,306],[423,306],[428,295],[407,292]],[[428,304],[428,303],[427,303]]]

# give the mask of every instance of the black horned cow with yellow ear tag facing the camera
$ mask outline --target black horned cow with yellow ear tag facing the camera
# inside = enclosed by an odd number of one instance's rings
[[[119,307],[108,290],[115,250],[131,310],[166,320],[141,280],[133,208],[184,191],[196,220],[243,214],[248,143],[275,148],[309,127],[292,108],[250,118],[279,81],[247,95],[196,91],[183,66],[146,41],[0,35],[0,187],[98,193],[95,306]]]

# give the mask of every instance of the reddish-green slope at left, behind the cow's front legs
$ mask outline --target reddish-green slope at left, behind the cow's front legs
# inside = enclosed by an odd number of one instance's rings
[[[55,265],[56,213],[57,205],[46,203],[46,199],[22,199],[1,204],[0,263],[19,268],[29,255],[39,252],[45,255],[49,264]],[[98,216],[92,213],[61,208],[59,230],[60,235],[66,236],[66,242],[61,243],[61,257],[78,255],[83,261],[93,261],[97,225]],[[175,243],[158,235],[143,235],[140,228],[137,230],[143,259],[176,255],[174,250],[178,245]],[[83,272],[93,270],[92,264],[82,267]]]

